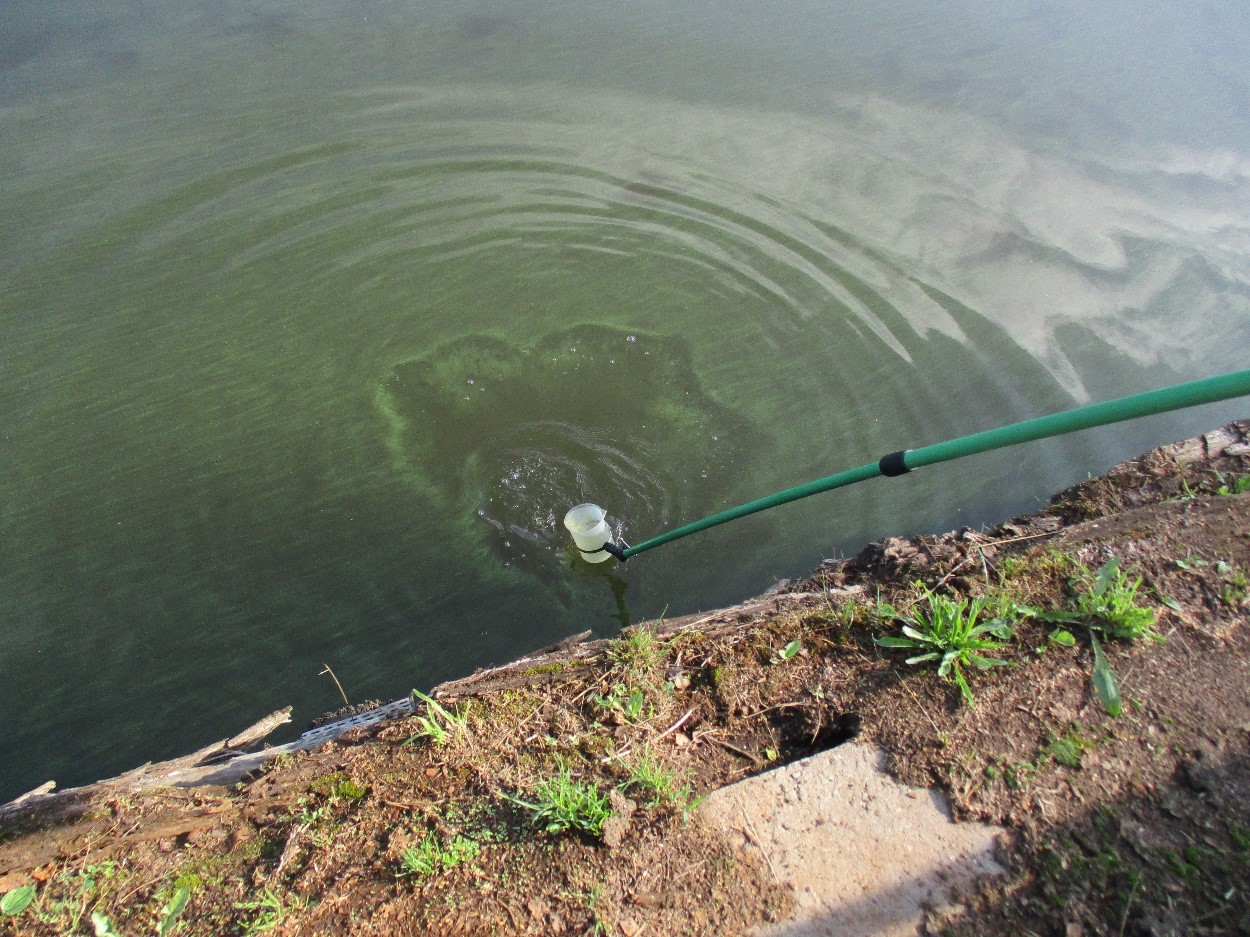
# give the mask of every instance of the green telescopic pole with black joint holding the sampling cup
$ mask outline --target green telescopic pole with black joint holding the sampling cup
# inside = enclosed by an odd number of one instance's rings
[[[1050,436],[1061,436],[1065,432],[1089,430],[1095,426],[1105,426],[1106,424],[1136,420],[1142,416],[1166,414],[1171,410],[1184,410],[1185,407],[1198,406],[1199,404],[1215,404],[1220,400],[1230,400],[1232,397],[1242,397],[1248,395],[1250,395],[1250,370],[1234,371],[1232,374],[1220,375],[1219,377],[1205,377],[1200,381],[1178,384],[1172,387],[1161,387],[1160,390],[1146,391],[1145,394],[1134,394],[1128,397],[1119,397],[1118,400],[1108,400],[1102,404],[1089,404],[1082,407],[1076,407],[1075,410],[1065,410],[1060,414],[1051,414],[1050,416],[1022,420],[1018,424],[1000,426],[996,430],[974,432],[971,436],[960,436],[959,439],[938,442],[932,446],[900,450],[898,452],[891,452],[888,456],[882,456],[876,462],[861,465],[859,468],[851,468],[845,472],[839,472],[838,475],[830,475],[825,478],[809,481],[806,485],[798,485],[792,488],[779,491],[775,495],[769,495],[768,497],[761,497],[756,501],[749,501],[745,505],[731,507],[728,511],[714,513],[682,527],[675,527],[674,530],[660,533],[650,540],[644,540],[641,543],[635,546],[625,547],[618,553],[618,556],[621,560],[629,560],[631,556],[638,556],[645,550],[670,543],[674,540],[688,537],[691,533],[698,533],[699,531],[708,530],[709,527],[735,521],[749,513],[766,511],[768,508],[776,507],[778,505],[785,505],[802,497],[819,495],[822,491],[842,488],[848,485],[875,478],[881,475],[889,477],[905,475],[912,468],[920,468],[925,465],[936,465],[938,462],[949,462],[952,459],[962,459],[964,456],[976,455],[978,452],[988,452],[991,449],[1018,446],[1021,442],[1044,440]]]

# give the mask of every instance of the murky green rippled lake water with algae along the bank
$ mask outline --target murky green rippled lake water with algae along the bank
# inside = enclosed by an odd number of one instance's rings
[[[1250,6],[0,4],[0,798],[979,525],[1245,416]]]

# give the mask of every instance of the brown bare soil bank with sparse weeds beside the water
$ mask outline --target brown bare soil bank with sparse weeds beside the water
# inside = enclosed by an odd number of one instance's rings
[[[1248,432],[1148,454],[991,531],[888,540],[735,610],[456,681],[441,711],[238,785],[34,798],[0,813],[0,935],[745,933],[792,896],[696,801],[856,735],[958,817],[1010,830],[1008,875],[934,910],[931,932],[1250,933]],[[882,603],[908,613],[918,582],[1059,611],[1111,558],[1161,641],[1016,615],[994,655],[1012,666],[965,670],[970,706],[905,662],[919,651],[874,640],[902,633]],[[1092,635],[1119,717],[1091,683]]]

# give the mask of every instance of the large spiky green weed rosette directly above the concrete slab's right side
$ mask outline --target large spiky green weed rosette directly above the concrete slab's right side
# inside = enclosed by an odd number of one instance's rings
[[[908,658],[908,663],[938,662],[938,676],[952,681],[964,695],[969,706],[975,706],[972,690],[964,675],[964,666],[978,670],[991,667],[1010,667],[1010,662],[989,657],[986,652],[1008,650],[1011,637],[1011,625],[1002,617],[981,621],[990,606],[990,598],[961,598],[955,601],[925,588],[920,582],[914,585],[918,601],[906,615],[894,606],[879,603],[878,617],[902,621],[902,637],[875,637],[881,647],[900,647],[922,651]]]

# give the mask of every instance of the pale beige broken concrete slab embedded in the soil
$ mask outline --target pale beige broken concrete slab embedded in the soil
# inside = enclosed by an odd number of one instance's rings
[[[911,937],[928,908],[1000,875],[996,827],[955,823],[938,791],[884,772],[885,752],[849,743],[716,791],[705,820],[762,853],[798,896],[759,937]]]

